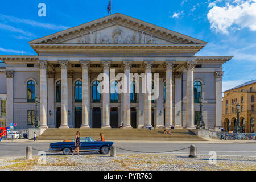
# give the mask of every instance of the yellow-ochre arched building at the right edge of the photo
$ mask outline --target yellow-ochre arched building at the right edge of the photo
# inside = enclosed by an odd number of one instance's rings
[[[237,119],[237,104],[240,105],[239,121],[244,133],[255,133],[256,80],[238,85],[224,92],[222,102],[222,126],[225,131],[234,131]]]

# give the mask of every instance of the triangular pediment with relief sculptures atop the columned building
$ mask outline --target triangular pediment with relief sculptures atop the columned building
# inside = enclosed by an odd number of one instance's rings
[[[30,44],[207,44],[199,39],[167,30],[123,14],[113,14]]]

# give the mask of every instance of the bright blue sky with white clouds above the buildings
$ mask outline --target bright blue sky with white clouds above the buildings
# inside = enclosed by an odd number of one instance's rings
[[[46,17],[38,4],[46,4]],[[107,16],[109,0],[0,2],[0,55],[36,55],[28,41]],[[256,78],[256,0],[112,0],[122,13],[208,42],[197,55],[234,58],[223,91]]]

